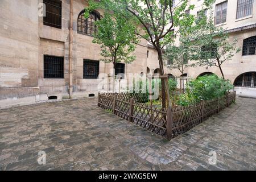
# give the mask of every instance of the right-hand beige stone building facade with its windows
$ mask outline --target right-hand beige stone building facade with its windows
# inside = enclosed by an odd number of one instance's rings
[[[176,0],[178,1],[178,0]],[[203,9],[203,0],[191,0],[195,9],[189,13],[197,15]],[[209,15],[209,10],[205,11]],[[234,85],[237,94],[248,97],[256,97],[256,0],[216,0],[213,6],[216,26],[222,26],[229,32],[230,42],[234,38],[238,40],[237,47],[241,52],[234,55],[232,60],[222,65],[224,76]],[[171,71],[172,75],[179,77],[177,70]],[[221,76],[217,67],[195,67],[185,69],[188,78],[197,78],[200,75],[214,73]]]

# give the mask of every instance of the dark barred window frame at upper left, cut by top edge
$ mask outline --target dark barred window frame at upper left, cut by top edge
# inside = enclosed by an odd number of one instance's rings
[[[60,0],[51,0],[51,2],[54,2],[54,3],[59,3],[60,7],[57,7],[53,4],[51,4],[50,2],[48,2],[48,0],[43,0],[43,3],[44,5],[46,5],[46,16],[44,16],[43,18],[43,24],[46,25],[46,26],[50,26],[50,27],[55,27],[55,28],[62,28],[62,1]],[[56,16],[59,16],[59,22],[60,24],[54,24],[52,22],[49,22],[47,21],[47,13],[49,14],[54,14],[54,13],[51,13],[49,11],[47,11],[47,5],[48,6],[54,6],[54,7],[57,7],[59,9],[59,15],[55,14]]]

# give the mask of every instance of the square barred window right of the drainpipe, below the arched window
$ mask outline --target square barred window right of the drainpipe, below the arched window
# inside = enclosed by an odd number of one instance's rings
[[[99,61],[84,60],[84,79],[97,79],[99,70]]]

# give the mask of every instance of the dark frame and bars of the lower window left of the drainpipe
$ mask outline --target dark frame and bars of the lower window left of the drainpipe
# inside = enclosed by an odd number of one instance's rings
[[[52,59],[55,59],[55,61],[59,61],[57,59],[61,59],[62,64],[58,64],[58,63],[46,63],[46,59],[47,57],[49,58],[48,61],[52,61]],[[46,69],[47,65],[49,64],[48,67],[50,67],[50,65],[60,65],[60,69],[56,70],[51,70],[51,69]],[[52,67],[53,68],[53,67]],[[56,68],[56,67],[55,67]],[[62,68],[62,69],[61,69]],[[52,55],[44,55],[44,63],[43,63],[43,70],[44,70],[44,78],[45,79],[64,79],[64,57],[62,56],[52,56]],[[47,73],[48,72],[48,73]],[[49,73],[49,72],[60,72],[58,73],[59,76],[49,76],[49,75],[57,75],[56,73]]]

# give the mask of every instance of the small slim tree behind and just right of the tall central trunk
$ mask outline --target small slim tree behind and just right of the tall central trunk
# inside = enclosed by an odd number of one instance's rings
[[[166,47],[166,51],[164,51],[164,57],[166,57],[169,69],[178,69],[182,76],[182,88],[184,88],[184,71],[188,67],[193,67],[195,64],[189,64],[189,60],[191,60],[191,53],[189,51],[189,47],[184,44],[180,44],[179,46],[175,46],[174,44],[170,44]],[[181,85],[180,85],[181,89]]]

